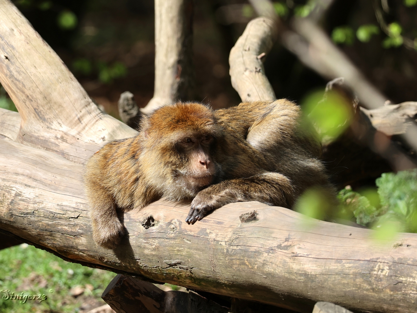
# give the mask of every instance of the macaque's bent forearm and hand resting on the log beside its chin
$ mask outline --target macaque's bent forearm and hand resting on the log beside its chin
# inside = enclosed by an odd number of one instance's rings
[[[186,222],[193,224],[211,210],[232,202],[259,201],[291,207],[294,199],[291,181],[279,173],[265,172],[248,178],[230,179],[199,192],[191,202]]]

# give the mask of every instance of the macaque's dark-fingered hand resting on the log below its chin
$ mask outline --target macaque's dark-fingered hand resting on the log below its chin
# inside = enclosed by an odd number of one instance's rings
[[[224,194],[216,193],[211,187],[201,190],[191,202],[191,210],[185,221],[188,224],[194,224],[205,217],[208,212],[233,202],[227,198]]]

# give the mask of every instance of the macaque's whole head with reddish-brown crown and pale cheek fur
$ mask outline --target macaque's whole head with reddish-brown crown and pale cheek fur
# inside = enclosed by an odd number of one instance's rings
[[[214,182],[220,165],[213,158],[222,136],[214,112],[200,103],[176,103],[153,112],[141,129],[141,166],[146,181],[163,197],[192,199]]]

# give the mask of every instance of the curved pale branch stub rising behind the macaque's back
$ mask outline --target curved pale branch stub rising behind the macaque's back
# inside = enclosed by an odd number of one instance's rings
[[[255,18],[230,51],[230,78],[242,101],[275,100],[266,78],[263,59],[276,40],[276,24],[265,17]]]

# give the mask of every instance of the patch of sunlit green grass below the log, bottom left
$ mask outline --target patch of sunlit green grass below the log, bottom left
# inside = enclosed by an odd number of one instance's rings
[[[27,244],[0,251],[0,312],[76,312],[84,301],[95,298],[98,303],[104,289],[115,276],[112,272],[69,263],[49,252]],[[76,298],[71,288],[78,286]],[[45,300],[7,299],[12,295],[45,295]],[[42,297],[41,297],[42,298]],[[23,302],[23,301],[22,301]]]

